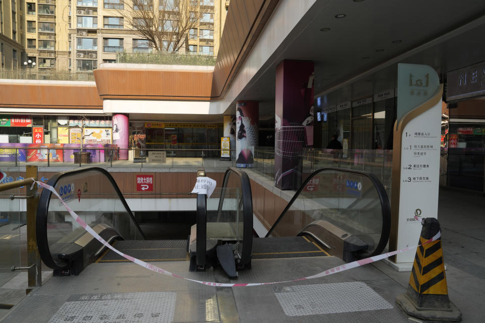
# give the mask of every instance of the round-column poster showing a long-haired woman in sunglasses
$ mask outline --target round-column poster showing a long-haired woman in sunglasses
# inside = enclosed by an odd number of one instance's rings
[[[236,167],[254,166],[254,148],[258,146],[259,105],[257,101],[236,104]]]

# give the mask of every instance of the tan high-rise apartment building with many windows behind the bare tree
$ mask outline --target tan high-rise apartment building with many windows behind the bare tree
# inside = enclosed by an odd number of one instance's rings
[[[186,2],[185,8],[197,15],[195,28],[186,31],[186,41],[178,52],[217,55],[229,1],[143,0],[154,4],[155,10],[177,1]],[[102,63],[114,63],[118,52],[153,51],[126,19],[133,8],[131,1],[0,0],[0,4],[5,70],[92,72]],[[35,66],[24,66],[28,60]]]

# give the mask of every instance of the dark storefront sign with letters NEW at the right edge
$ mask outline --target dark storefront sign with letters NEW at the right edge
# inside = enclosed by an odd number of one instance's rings
[[[485,95],[485,62],[447,73],[446,99]]]

